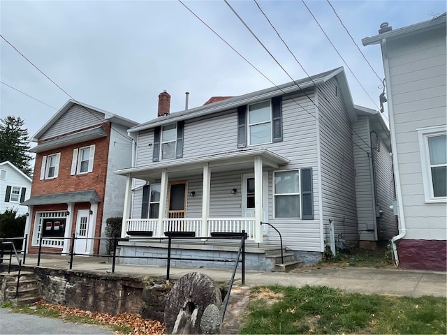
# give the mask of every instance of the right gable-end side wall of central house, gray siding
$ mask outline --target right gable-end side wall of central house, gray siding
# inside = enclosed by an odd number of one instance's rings
[[[352,128],[340,89],[335,96],[336,86],[335,78],[318,85],[325,241],[329,243],[331,220],[335,237],[340,236],[348,246],[355,246],[358,244],[358,221]]]

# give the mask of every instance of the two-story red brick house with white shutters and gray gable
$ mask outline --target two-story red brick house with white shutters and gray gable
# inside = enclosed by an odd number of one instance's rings
[[[127,128],[137,123],[77,101],[68,101],[34,135],[36,153],[25,234],[28,251],[99,253],[105,221],[121,216],[126,179],[114,174],[131,166]]]

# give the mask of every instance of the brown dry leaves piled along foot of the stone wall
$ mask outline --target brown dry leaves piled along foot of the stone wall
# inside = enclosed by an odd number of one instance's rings
[[[118,315],[111,315],[108,313],[99,313],[91,311],[82,311],[79,308],[70,308],[61,305],[47,304],[41,300],[36,302],[36,306],[41,306],[45,309],[58,311],[59,317],[66,318],[67,316],[75,316],[79,318],[91,318],[98,322],[103,322],[108,325],[117,325],[121,327],[130,327],[133,329],[129,335],[161,335],[166,334],[166,327],[159,321],[146,320],[140,315],[134,313],[122,313]]]

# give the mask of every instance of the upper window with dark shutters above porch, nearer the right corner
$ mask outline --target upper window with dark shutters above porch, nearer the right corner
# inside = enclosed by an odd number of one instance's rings
[[[282,97],[237,107],[237,147],[282,141]]]

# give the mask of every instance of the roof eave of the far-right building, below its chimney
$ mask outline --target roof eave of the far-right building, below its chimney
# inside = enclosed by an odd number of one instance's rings
[[[402,27],[395,30],[387,31],[386,33],[375,35],[372,37],[365,37],[362,39],[363,45],[379,44],[386,38],[387,40],[397,40],[408,36],[413,36],[433,29],[439,29],[444,27],[446,29],[446,13],[437,17],[433,17],[431,20],[411,24],[406,27]]]

